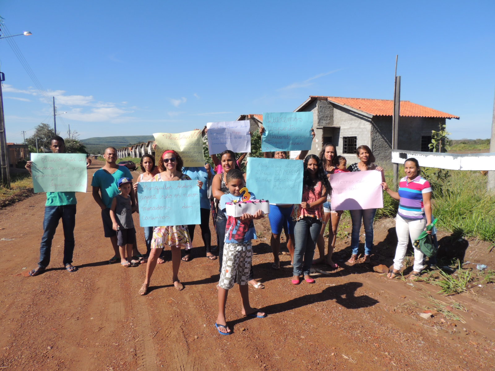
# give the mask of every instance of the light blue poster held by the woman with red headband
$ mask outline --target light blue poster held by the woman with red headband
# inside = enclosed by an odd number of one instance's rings
[[[201,224],[198,181],[138,183],[141,227]]]

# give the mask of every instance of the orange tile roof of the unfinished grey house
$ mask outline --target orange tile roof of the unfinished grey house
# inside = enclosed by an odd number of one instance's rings
[[[367,99],[367,98],[344,98],[340,96],[311,95],[310,98],[327,98],[331,102],[359,109],[374,116],[392,116],[394,112],[394,100],[392,99]],[[409,100],[400,101],[400,116],[408,117],[440,117],[447,119],[458,119],[459,116],[437,111]]]

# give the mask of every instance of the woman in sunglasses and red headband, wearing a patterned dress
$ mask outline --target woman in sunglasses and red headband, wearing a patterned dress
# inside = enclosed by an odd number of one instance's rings
[[[158,169],[161,173],[153,177],[154,182],[161,181],[190,181],[186,174],[182,173],[184,161],[181,156],[174,150],[166,150],[158,159]],[[203,182],[198,181],[201,187]],[[145,282],[139,290],[140,295],[146,295],[148,292],[149,280],[156,267],[156,261],[160,256],[164,246],[170,246],[172,250],[172,282],[177,290],[182,290],[184,285],[179,280],[179,267],[181,265],[181,248],[191,249],[191,237],[187,226],[163,226],[155,227],[153,238],[151,239],[151,252],[149,254],[148,265],[146,266]]]

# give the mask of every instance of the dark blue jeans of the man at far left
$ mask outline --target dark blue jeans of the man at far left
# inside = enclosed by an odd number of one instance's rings
[[[50,264],[51,241],[62,218],[64,235],[63,264],[72,263],[74,253],[74,227],[76,226],[76,205],[45,206],[43,220],[43,237],[40,246],[40,262],[38,266],[47,268]]]

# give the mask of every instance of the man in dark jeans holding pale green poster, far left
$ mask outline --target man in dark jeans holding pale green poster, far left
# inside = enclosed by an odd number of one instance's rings
[[[65,152],[63,138],[54,136],[50,139],[50,149],[53,153]],[[32,161],[26,163],[26,169],[31,174]],[[55,235],[58,222],[62,219],[64,234],[63,265],[68,272],[77,271],[72,266],[72,255],[74,254],[74,227],[76,225],[76,192],[47,192],[47,203],[45,204],[45,219],[43,220],[43,237],[40,246],[40,262],[38,268],[29,272],[30,276],[42,274],[50,263],[51,241]]]

